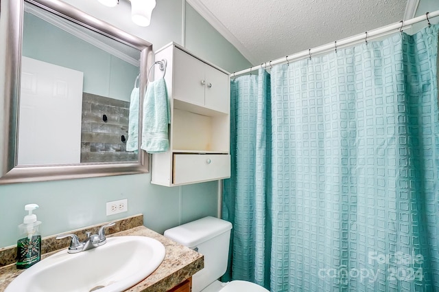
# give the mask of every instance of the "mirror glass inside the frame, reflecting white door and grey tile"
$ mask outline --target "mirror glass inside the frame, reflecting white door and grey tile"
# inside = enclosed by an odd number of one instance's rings
[[[17,165],[139,161],[121,139],[139,49],[25,3],[22,55]]]

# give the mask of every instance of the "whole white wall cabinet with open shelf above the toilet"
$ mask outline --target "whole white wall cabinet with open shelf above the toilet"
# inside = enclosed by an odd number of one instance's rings
[[[171,106],[169,150],[152,155],[151,182],[181,186],[230,177],[230,79],[228,72],[171,43],[166,60]],[[160,78],[163,71],[154,68]]]

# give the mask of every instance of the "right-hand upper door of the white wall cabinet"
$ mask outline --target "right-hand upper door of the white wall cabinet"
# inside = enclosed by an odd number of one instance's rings
[[[208,109],[228,113],[228,76],[227,74],[206,65],[206,89],[204,106]]]

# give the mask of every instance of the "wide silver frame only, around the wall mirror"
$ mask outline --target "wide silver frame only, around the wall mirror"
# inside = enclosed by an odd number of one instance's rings
[[[147,153],[140,151],[137,163],[16,166],[16,140],[21,80],[21,45],[24,1],[58,14],[141,51],[141,96],[145,93],[147,65],[154,62],[152,44],[58,0],[1,0],[0,2],[0,185],[28,181],[52,181],[84,177],[106,177],[148,172]],[[142,102],[139,105],[141,117]],[[139,124],[141,128],[141,123]],[[141,129],[140,129],[141,131]]]

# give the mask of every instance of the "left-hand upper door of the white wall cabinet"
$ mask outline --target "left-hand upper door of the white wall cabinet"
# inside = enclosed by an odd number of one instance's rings
[[[182,50],[174,49],[174,99],[204,106],[205,65]]]

